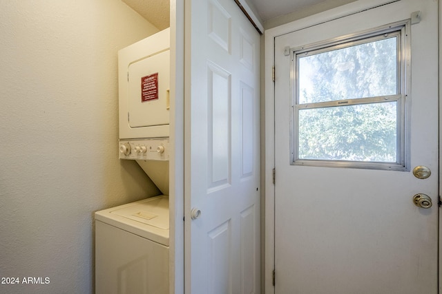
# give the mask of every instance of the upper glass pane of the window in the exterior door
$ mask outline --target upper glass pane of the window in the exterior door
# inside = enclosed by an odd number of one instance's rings
[[[398,94],[396,39],[298,54],[298,103]]]

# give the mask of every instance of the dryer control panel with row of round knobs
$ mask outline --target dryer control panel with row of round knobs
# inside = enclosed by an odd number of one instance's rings
[[[169,138],[119,140],[119,158],[169,160]]]

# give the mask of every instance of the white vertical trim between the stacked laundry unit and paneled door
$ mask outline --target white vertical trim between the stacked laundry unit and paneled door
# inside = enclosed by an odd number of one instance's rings
[[[171,0],[171,145],[169,161],[169,293],[184,293],[184,3]]]

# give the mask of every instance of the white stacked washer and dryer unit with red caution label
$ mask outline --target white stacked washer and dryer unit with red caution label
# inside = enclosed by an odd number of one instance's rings
[[[162,195],[95,213],[95,292],[169,293],[170,31],[118,52],[119,158]]]

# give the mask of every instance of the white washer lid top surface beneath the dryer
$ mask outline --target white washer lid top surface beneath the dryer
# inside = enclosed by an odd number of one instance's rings
[[[169,230],[169,197],[148,198],[133,205],[109,211],[136,222],[142,222],[158,229]]]

